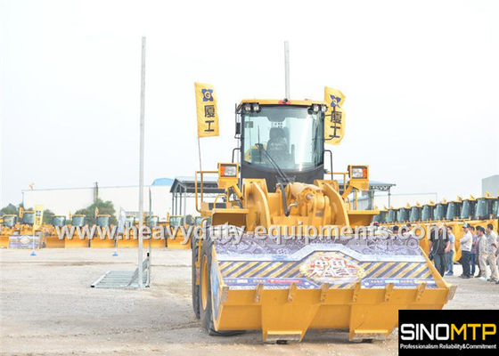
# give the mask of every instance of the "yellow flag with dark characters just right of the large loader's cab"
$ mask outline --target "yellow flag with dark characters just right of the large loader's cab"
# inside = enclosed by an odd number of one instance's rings
[[[345,95],[338,89],[324,87],[324,101],[328,109],[324,118],[325,143],[337,145],[345,135],[345,111],[343,103]]]

